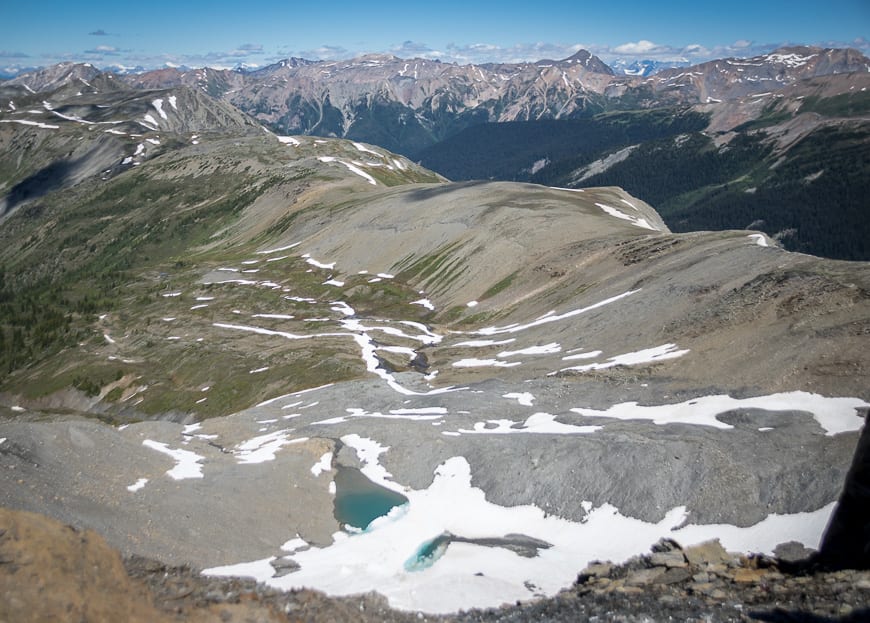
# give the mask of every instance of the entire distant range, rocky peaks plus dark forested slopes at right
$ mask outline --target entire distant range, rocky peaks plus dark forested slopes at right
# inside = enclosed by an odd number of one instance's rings
[[[788,47],[646,75],[655,68],[620,74],[585,50],[516,64],[366,55],[123,75],[64,63],[3,82],[0,101],[15,114],[15,102],[58,89],[186,87],[278,134],[380,145],[451,179],[618,185],[676,231],[751,225],[793,250],[870,258],[870,59]]]

